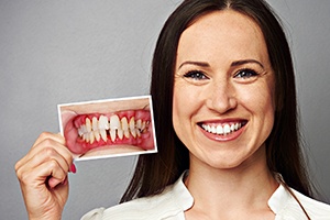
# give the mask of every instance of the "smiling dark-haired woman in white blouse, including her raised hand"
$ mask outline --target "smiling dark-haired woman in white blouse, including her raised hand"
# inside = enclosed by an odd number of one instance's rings
[[[161,32],[151,94],[158,154],[140,156],[121,205],[82,219],[329,219],[308,198],[290,52],[264,1],[184,1]],[[72,162],[50,133],[18,162],[31,219],[61,218]]]

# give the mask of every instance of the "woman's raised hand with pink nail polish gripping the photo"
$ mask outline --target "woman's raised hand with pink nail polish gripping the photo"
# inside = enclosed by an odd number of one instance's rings
[[[59,134],[42,133],[15,164],[30,219],[61,219],[68,198],[67,173],[75,173],[73,156]]]

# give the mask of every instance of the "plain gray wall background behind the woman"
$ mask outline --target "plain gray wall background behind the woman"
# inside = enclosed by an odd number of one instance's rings
[[[178,0],[0,1],[0,219],[26,219],[14,164],[42,131],[58,132],[57,103],[146,95],[157,34]],[[330,200],[329,0],[270,0],[297,70],[312,178]],[[118,202],[136,158],[79,162],[64,219]]]

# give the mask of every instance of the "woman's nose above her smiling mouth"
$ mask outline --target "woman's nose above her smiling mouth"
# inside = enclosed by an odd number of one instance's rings
[[[237,108],[235,90],[228,81],[215,82],[208,91],[207,107],[219,113],[226,113]]]

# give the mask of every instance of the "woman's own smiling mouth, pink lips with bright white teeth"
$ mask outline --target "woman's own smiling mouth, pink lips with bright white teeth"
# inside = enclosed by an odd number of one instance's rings
[[[231,141],[241,135],[248,120],[204,121],[199,122],[202,133],[215,141]]]

